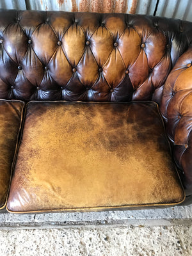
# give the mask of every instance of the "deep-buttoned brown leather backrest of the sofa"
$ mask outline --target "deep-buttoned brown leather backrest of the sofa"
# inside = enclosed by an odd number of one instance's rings
[[[0,11],[0,98],[161,101],[191,23],[127,14]]]

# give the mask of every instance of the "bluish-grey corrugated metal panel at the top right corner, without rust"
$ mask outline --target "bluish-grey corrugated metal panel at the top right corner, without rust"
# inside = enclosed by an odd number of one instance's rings
[[[159,0],[156,15],[192,21],[192,0]]]

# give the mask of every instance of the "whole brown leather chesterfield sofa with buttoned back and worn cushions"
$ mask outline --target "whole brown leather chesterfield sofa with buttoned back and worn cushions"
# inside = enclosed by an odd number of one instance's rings
[[[0,52],[1,209],[191,202],[191,22],[0,10]]]

